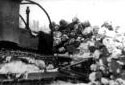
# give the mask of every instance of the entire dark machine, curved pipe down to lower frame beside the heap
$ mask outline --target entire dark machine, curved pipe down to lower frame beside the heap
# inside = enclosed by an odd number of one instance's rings
[[[26,2],[23,2],[23,0],[0,0],[0,50],[5,49],[11,49],[11,50],[20,50],[20,51],[26,51],[21,52],[22,54],[25,53],[26,55],[30,56],[37,56],[40,59],[44,60],[46,63],[52,63],[55,65],[55,67],[58,68],[57,72],[50,72],[50,73],[30,73],[29,79],[14,79],[12,81],[5,80],[6,75],[0,74],[1,78],[4,77],[4,80],[0,81],[0,83],[4,85],[10,85],[10,84],[21,84],[21,85],[41,85],[42,83],[46,83],[48,85],[48,82],[52,80],[86,80],[85,77],[88,77],[85,73],[90,72],[89,70],[85,70],[88,67],[84,67],[84,64],[88,62],[88,59],[81,60],[79,62],[76,62],[75,64],[71,64],[72,61],[71,58],[67,57],[59,57],[53,55],[53,30],[52,30],[52,22],[50,19],[49,14],[47,11],[38,3],[31,1],[31,0],[25,0]],[[33,32],[29,27],[29,7],[27,7],[26,14],[27,19],[26,21],[23,19],[23,17],[19,14],[20,5],[25,4],[35,4],[38,7],[40,7],[44,13],[47,15],[47,18],[49,20],[49,27],[50,27],[50,34],[46,34],[42,31],[35,32],[37,33],[37,36],[33,36]],[[25,24],[25,29],[19,28],[19,18],[22,19],[22,21]],[[32,52],[32,53],[30,53]],[[40,54],[40,55],[36,55]],[[60,60],[64,60],[68,62],[66,65],[62,65],[63,63],[60,62]],[[63,61],[63,62],[64,62]],[[92,60],[90,59],[90,62]],[[92,62],[91,62],[92,63]],[[90,64],[91,64],[90,63]],[[61,65],[60,65],[61,64]],[[78,69],[75,66],[78,64],[82,64],[82,73],[74,71],[72,69]],[[89,65],[90,65],[89,64]],[[89,66],[88,65],[88,66]],[[85,72],[85,73],[83,73]],[[83,78],[84,77],[84,78]],[[0,78],[0,80],[1,80]]]

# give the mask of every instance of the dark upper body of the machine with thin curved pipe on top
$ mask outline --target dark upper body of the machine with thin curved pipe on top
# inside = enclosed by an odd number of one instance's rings
[[[46,10],[39,5],[38,3],[30,0],[25,0],[26,2],[22,2],[22,0],[1,0],[0,1],[0,41],[6,41],[5,45],[1,45],[0,47],[12,47],[12,49],[23,48],[35,50],[40,54],[51,55],[52,46],[53,46],[53,35],[52,32],[50,34],[46,34],[42,31],[37,32],[37,36],[32,35],[32,30],[29,27],[29,14],[30,9],[27,7],[26,14],[27,20],[25,21],[21,15],[19,15],[19,6],[24,4],[35,4],[39,6],[47,15],[50,29],[51,29],[51,19],[46,12]],[[26,25],[25,29],[19,28],[19,17],[23,20]],[[8,41],[8,44],[7,44]],[[15,45],[9,45],[15,43]],[[18,47],[19,46],[19,47]]]

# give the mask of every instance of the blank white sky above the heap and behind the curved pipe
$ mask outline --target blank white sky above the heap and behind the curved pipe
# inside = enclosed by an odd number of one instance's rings
[[[51,20],[57,24],[61,19],[71,22],[72,18],[78,17],[81,22],[88,20],[93,26],[110,21],[121,28],[125,27],[125,0],[36,0],[36,2],[45,8]],[[24,18],[26,7],[20,6],[20,14]],[[49,22],[45,13],[38,6],[29,5],[29,7],[31,29],[48,32]],[[33,27],[33,22],[36,21],[39,22],[39,26]]]

